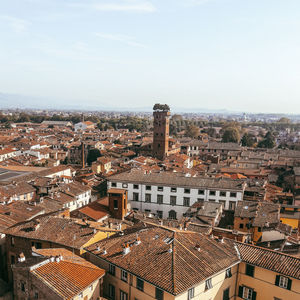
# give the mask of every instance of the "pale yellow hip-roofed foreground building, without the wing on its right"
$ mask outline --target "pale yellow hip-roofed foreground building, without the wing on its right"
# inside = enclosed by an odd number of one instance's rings
[[[228,241],[138,224],[86,250],[108,299],[230,299],[240,259]]]

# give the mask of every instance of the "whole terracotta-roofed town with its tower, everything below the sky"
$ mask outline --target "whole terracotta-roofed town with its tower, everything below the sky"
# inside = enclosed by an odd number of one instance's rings
[[[3,110],[0,300],[300,299],[297,116]]]

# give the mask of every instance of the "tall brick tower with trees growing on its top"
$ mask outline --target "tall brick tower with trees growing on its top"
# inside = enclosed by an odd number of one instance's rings
[[[169,106],[155,104],[153,117],[153,156],[163,160],[168,155],[169,148]]]

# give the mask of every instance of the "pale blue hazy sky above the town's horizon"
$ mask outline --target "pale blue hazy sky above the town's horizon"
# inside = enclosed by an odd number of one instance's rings
[[[300,1],[0,0],[0,92],[300,113]]]

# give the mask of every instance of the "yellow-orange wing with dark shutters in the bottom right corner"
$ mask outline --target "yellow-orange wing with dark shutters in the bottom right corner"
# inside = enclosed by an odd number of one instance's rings
[[[300,299],[300,259],[261,247],[238,243],[236,299]]]

